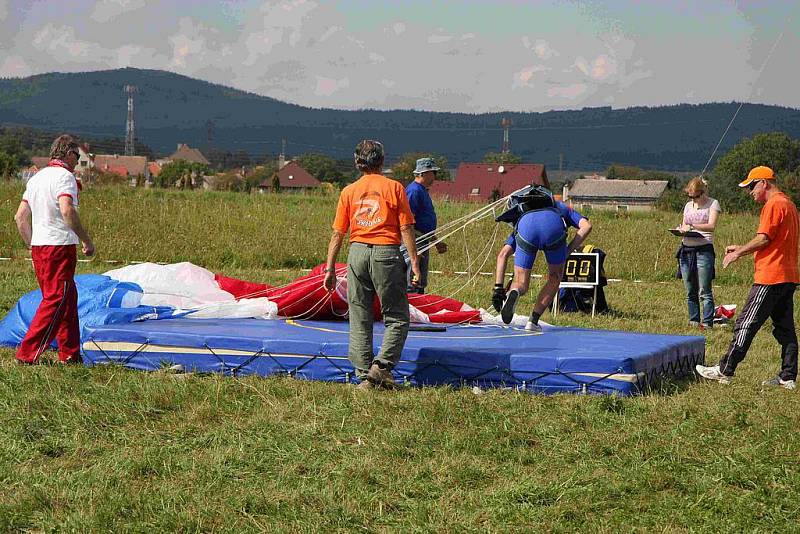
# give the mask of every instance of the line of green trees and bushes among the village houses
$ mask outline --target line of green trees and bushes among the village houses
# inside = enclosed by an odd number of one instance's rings
[[[50,143],[56,134],[38,131],[27,127],[0,127],[0,176],[11,179],[20,170],[30,165],[30,158],[46,155]],[[107,138],[99,141],[81,139],[90,146],[108,147],[111,150],[124,149],[120,139]],[[155,156],[146,149],[149,159]],[[278,164],[277,157],[269,155],[260,161],[251,158],[245,151],[208,150],[210,165],[200,165],[183,161],[171,162],[163,166],[159,176],[155,177],[156,187],[196,187],[198,177],[215,174],[214,188],[219,190],[250,192],[262,184],[278,189],[276,182]],[[451,180],[447,157],[435,152],[407,152],[402,154],[391,165],[391,176],[403,183],[414,179],[413,171],[416,160],[421,157],[432,157],[442,171],[437,179]],[[357,179],[358,174],[349,159],[336,159],[331,156],[307,152],[293,158],[323,183],[341,188]],[[488,152],[483,157],[484,163],[516,164],[522,158],[513,153]],[[718,199],[723,209],[730,212],[754,211],[757,206],[749,195],[741,194],[737,184],[747,172],[758,165],[767,165],[778,174],[781,188],[790,195],[795,203],[800,204],[800,140],[794,139],[785,132],[760,133],[745,138],[723,154],[713,169],[706,173],[705,180],[709,184],[709,194]],[[688,175],[642,169],[636,166],[613,164],[606,170],[610,180],[664,180],[668,183],[659,206],[662,209],[679,211],[683,209],[686,196],[683,188],[691,178]],[[101,180],[102,181],[102,180]],[[115,177],[108,177],[105,182],[120,182]]]

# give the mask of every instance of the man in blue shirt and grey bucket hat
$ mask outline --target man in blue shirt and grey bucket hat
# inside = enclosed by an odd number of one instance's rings
[[[428,188],[436,179],[436,172],[439,171],[433,158],[420,158],[414,169],[414,181],[406,187],[408,204],[414,214],[414,231],[417,235],[417,249],[425,249],[432,241],[436,241],[436,212],[433,209],[433,201],[428,194]],[[425,236],[420,240],[420,236]],[[444,254],[447,252],[447,244],[444,241],[434,244],[436,252]],[[419,255],[420,279],[417,284],[411,283],[411,270],[408,270],[407,286],[409,293],[425,293],[428,285],[428,262],[430,250],[425,250]]]

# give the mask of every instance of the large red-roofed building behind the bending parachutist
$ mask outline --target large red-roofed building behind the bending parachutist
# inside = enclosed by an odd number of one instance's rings
[[[456,178],[436,181],[431,186],[431,196],[447,200],[487,202],[504,197],[527,185],[536,184],[550,188],[547,171],[539,163],[462,163]]]

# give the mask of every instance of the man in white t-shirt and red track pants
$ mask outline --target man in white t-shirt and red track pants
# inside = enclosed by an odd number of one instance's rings
[[[57,137],[49,165],[28,180],[14,217],[31,249],[42,290],[42,302],[17,349],[21,363],[36,363],[53,339],[62,363],[81,361],[75,246],[80,243],[83,253],[91,256],[94,243],[78,217],[78,184],[72,172],[79,158],[78,143],[71,136]]]

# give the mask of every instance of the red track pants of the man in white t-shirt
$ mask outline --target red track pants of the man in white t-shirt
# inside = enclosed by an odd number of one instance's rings
[[[42,302],[17,349],[17,359],[36,363],[55,339],[59,360],[80,361],[75,245],[31,247],[31,258],[42,289]]]

